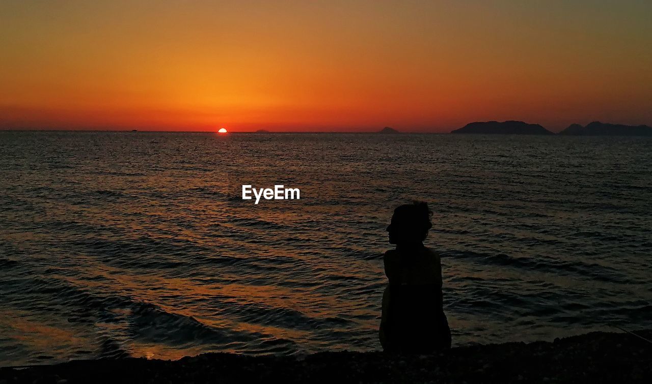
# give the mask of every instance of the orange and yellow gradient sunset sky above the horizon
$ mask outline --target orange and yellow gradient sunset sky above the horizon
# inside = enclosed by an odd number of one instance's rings
[[[652,1],[0,3],[0,129],[652,125]]]

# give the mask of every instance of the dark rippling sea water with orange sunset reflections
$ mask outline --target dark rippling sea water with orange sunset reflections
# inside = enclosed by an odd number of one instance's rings
[[[3,131],[0,364],[378,350],[414,199],[454,345],[652,327],[651,185],[649,138]]]

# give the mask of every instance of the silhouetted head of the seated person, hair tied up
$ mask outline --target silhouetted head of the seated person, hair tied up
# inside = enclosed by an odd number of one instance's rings
[[[425,202],[413,202],[396,207],[391,223],[387,226],[389,243],[411,245],[422,243],[432,228],[432,212]]]

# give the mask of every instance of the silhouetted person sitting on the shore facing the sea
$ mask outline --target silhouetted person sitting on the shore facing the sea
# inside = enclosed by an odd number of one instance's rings
[[[385,252],[383,262],[389,284],[383,293],[379,329],[383,350],[431,353],[451,348],[451,329],[443,310],[441,260],[424,247],[432,212],[425,202],[394,210],[387,226],[396,249]]]

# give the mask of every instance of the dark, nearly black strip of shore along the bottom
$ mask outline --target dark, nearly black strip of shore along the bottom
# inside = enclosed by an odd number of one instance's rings
[[[652,329],[636,331],[652,339]],[[206,353],[178,361],[72,361],[1,368],[8,383],[652,383],[652,344],[594,332],[554,342],[453,348],[435,355],[322,352],[304,359]]]

